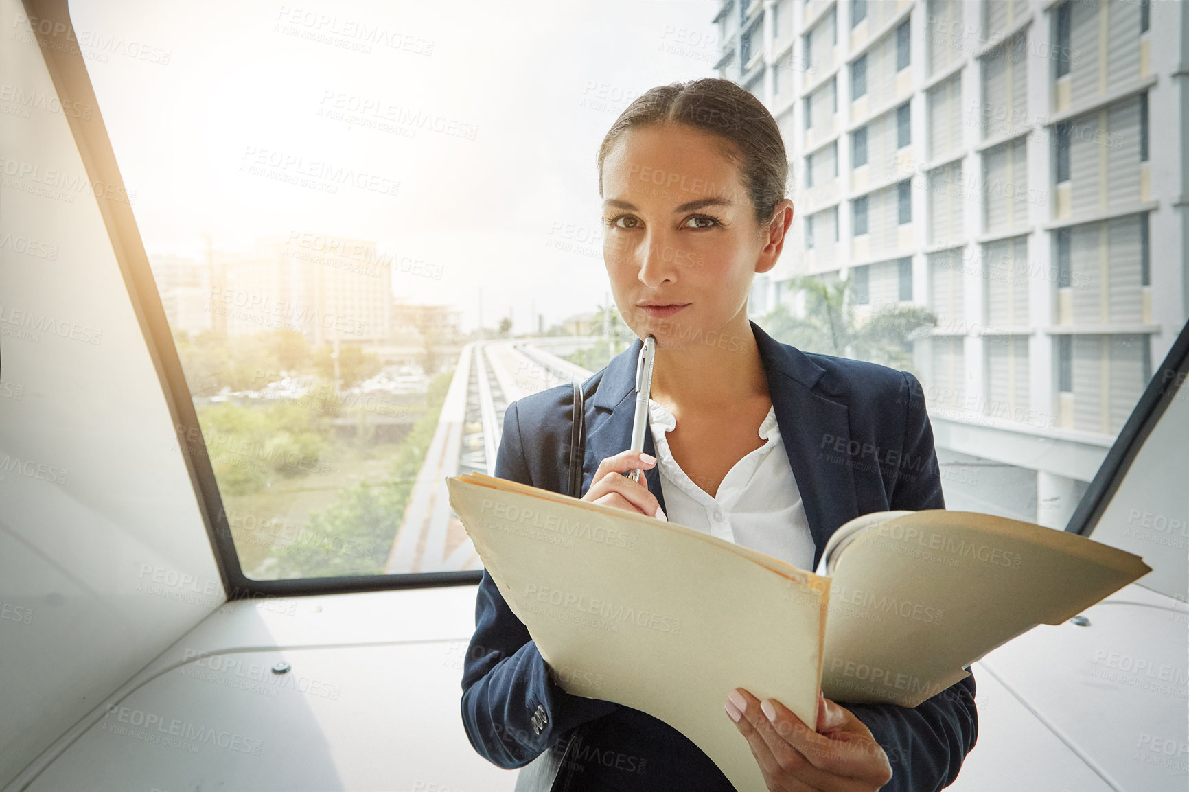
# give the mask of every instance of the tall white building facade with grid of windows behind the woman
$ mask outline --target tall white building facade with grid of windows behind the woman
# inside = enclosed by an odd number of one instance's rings
[[[949,508],[1064,527],[1189,310],[1189,4],[725,0],[715,23],[791,165],[753,314],[795,275],[927,307],[938,454],[1020,496],[952,480]]]

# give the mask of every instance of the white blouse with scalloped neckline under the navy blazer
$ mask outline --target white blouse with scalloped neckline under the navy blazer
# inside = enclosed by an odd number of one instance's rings
[[[654,400],[648,408],[666,518],[812,571],[813,536],[774,407],[760,425],[767,442],[735,463],[713,497],[673,459],[666,434],[677,419]]]

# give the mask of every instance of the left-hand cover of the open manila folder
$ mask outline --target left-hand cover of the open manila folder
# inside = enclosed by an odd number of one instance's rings
[[[744,687],[816,723],[826,578],[655,517],[477,473],[446,480],[562,690],[648,712],[735,788],[766,791],[723,703]]]

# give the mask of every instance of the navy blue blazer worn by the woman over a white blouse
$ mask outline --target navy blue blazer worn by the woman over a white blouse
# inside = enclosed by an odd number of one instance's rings
[[[814,567],[830,534],[853,517],[945,508],[933,433],[916,377],[801,352],[755,322],[751,332],[804,498]],[[640,346],[636,339],[584,383],[585,394],[598,388],[586,400],[584,494],[598,463],[630,444]],[[508,406],[496,476],[565,491],[572,390],[560,385]],[[656,453],[650,426],[644,451]],[[663,508],[659,476],[656,466],[644,471],[649,491]],[[562,690],[486,571],[474,617],[463,670],[463,723],[471,744],[491,762],[522,767],[554,743],[565,744],[570,731],[581,727],[571,790],[734,790],[700,748],[663,721]],[[974,677],[968,677],[916,708],[839,704],[872,730],[887,753],[893,775],[882,787],[886,792],[930,792],[957,778],[974,747],[979,730],[974,698]]]

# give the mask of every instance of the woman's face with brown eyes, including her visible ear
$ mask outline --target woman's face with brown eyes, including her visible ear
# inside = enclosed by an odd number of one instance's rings
[[[751,279],[775,265],[792,222],[785,200],[781,222],[761,233],[723,140],[687,125],[647,126],[624,133],[603,161],[611,290],[628,327],[659,347],[738,342]]]

